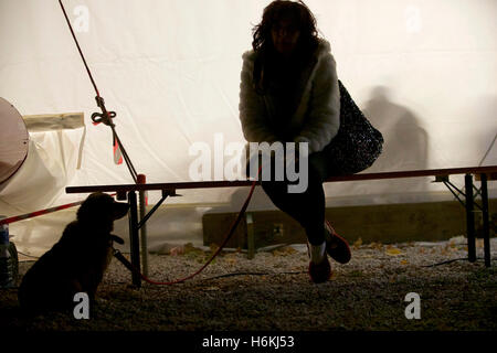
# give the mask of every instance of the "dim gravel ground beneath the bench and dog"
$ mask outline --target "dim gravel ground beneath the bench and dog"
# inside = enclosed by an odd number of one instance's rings
[[[22,331],[494,331],[497,269],[493,260],[464,258],[466,240],[352,246],[347,265],[315,285],[305,246],[257,253],[222,253],[203,272],[175,286],[130,286],[129,271],[113,260],[89,320],[51,313],[21,314],[17,289],[1,289],[0,329]],[[477,254],[483,256],[477,240]],[[497,249],[497,238],[491,239]],[[149,277],[168,281],[194,272],[211,252],[150,255]],[[491,254],[496,258],[497,252]],[[22,276],[32,261],[20,263]],[[222,277],[219,277],[222,276]],[[419,293],[421,319],[408,320],[405,296]]]

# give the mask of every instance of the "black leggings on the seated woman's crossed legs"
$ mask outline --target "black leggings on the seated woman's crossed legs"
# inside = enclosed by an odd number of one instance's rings
[[[325,153],[311,153],[308,157],[308,185],[303,193],[289,193],[288,185],[297,182],[261,181],[261,185],[274,205],[296,220],[306,231],[307,239],[313,245],[325,242],[325,191],[322,182],[331,174],[339,174],[337,169],[330,165]],[[272,172],[274,171],[272,160]],[[273,173],[272,173],[273,174]]]

